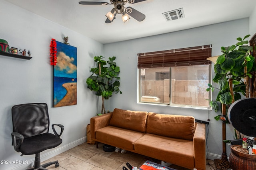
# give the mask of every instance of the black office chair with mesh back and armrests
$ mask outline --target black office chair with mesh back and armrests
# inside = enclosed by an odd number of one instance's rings
[[[12,145],[22,155],[35,154],[34,167],[28,170],[47,170],[46,167],[60,164],[57,161],[40,164],[40,152],[57,147],[62,143],[60,135],[64,126],[52,124],[54,134],[49,133],[49,114],[46,103],[20,104],[12,107]],[[60,127],[60,134],[55,130]]]

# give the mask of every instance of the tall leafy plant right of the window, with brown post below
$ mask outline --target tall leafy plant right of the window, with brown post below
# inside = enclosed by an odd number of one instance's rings
[[[215,112],[219,110],[218,103],[220,103],[221,106],[222,115],[214,117],[216,120],[222,121],[223,153],[219,163],[221,165],[228,164],[225,142],[226,123],[229,122],[226,111],[234,101],[241,98],[241,94],[249,97],[249,79],[252,78],[252,72],[256,70],[255,58],[250,55],[253,51],[253,47],[246,45],[249,43],[245,40],[248,37],[250,37],[250,35],[246,35],[243,39],[238,37],[238,43],[236,43],[236,45],[221,47],[223,54],[218,57],[214,64],[215,76],[212,80],[218,83],[219,88],[212,86],[212,84],[208,84],[209,88],[207,88],[207,91],[219,90],[216,99],[210,101],[210,106],[212,106]],[[237,138],[241,138],[241,134],[238,131],[236,131],[235,135]],[[228,167],[228,165],[226,165],[226,167]]]

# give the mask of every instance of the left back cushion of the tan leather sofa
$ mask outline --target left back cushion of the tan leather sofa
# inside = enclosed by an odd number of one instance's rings
[[[148,112],[114,109],[109,125],[146,132],[146,121]]]

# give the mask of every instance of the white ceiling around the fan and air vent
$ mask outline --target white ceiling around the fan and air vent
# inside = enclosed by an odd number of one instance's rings
[[[256,7],[256,0],[146,0],[125,5],[145,14],[144,21],[131,18],[123,23],[117,14],[112,23],[105,23],[112,5],[78,4],[82,0],[6,1],[104,44],[247,18]],[[185,18],[167,22],[162,13],[178,8],[183,8]]]

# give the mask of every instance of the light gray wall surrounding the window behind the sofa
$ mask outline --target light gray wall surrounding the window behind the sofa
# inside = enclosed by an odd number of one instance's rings
[[[222,125],[220,121],[214,119],[216,115],[221,114],[220,112],[137,103],[137,53],[212,44],[212,56],[216,56],[221,54],[220,47],[233,45],[236,43],[237,37],[244,37],[248,33],[249,19],[247,18],[152,37],[105,44],[104,54],[106,56],[114,55],[117,58],[116,63],[121,70],[120,89],[123,92],[121,95],[114,95],[111,100],[107,101],[108,109],[112,110],[115,107],[119,107],[164,114],[192,115],[196,119],[204,121],[207,121],[209,117],[208,158],[220,158],[222,154]],[[214,74],[214,68],[212,68],[212,74]],[[215,84],[215,86],[218,85]],[[216,92],[213,94],[213,99],[216,99]],[[227,139],[233,139],[233,136],[233,127],[228,125]],[[229,156],[230,147],[228,146],[227,149]]]

